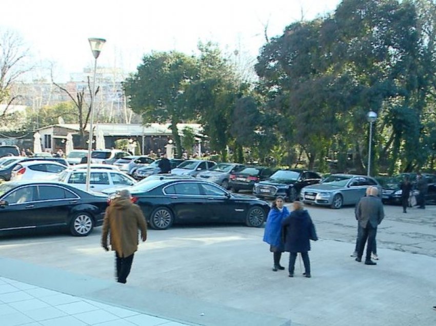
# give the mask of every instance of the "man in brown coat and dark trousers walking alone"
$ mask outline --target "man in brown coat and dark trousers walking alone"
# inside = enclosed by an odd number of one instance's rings
[[[108,233],[110,230],[110,244],[115,251],[116,278],[120,283],[127,282],[133,255],[138,249],[138,230],[141,239],[147,240],[147,224],[141,209],[132,203],[132,196],[128,190],[122,190],[118,197],[112,200],[106,209],[103,221],[102,247],[109,251]]]

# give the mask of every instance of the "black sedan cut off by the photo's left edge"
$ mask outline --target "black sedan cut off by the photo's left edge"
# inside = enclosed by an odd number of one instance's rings
[[[55,181],[5,182],[0,185],[0,233],[61,227],[86,236],[102,225],[107,200]]]

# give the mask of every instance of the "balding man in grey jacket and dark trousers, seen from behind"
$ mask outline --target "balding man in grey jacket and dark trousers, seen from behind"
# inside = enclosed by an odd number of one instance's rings
[[[363,197],[356,208],[356,219],[359,221],[360,239],[358,243],[358,256],[356,261],[362,261],[363,250],[366,244],[366,265],[376,265],[377,263],[371,260],[372,246],[377,235],[377,227],[385,217],[383,210],[383,202],[377,197],[379,190],[375,187],[370,187],[369,196]],[[368,240],[368,241],[367,241]]]

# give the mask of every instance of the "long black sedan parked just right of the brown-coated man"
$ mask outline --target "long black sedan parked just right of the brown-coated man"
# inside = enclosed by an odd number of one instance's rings
[[[234,195],[198,179],[156,179],[129,190],[132,201],[141,207],[150,227],[156,230],[168,229],[173,223],[224,222],[261,227],[269,212],[264,200]]]

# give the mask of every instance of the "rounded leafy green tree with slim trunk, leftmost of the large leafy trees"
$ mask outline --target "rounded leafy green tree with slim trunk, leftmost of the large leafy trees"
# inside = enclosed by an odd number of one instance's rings
[[[185,90],[198,78],[196,60],[180,52],[153,52],[143,57],[137,72],[123,87],[133,112],[143,123],[170,123],[176,156],[182,154],[177,124],[193,117]]]

